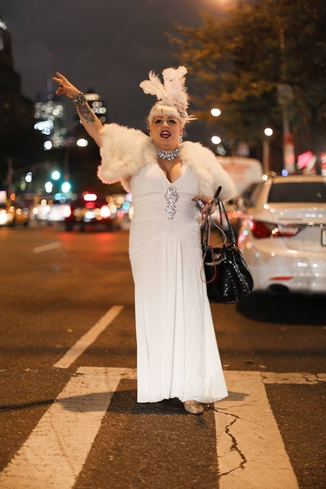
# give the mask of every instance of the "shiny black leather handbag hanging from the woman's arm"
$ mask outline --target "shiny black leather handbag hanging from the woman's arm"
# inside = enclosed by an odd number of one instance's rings
[[[254,282],[243,255],[237,247],[236,238],[230,225],[228,214],[218,195],[218,187],[202,225],[202,250],[205,269],[207,296],[210,302],[233,304],[247,297],[253,289]],[[220,230],[223,230],[223,214],[228,225],[231,244],[225,242],[220,247],[209,245],[211,217],[210,210],[217,204],[220,214]]]

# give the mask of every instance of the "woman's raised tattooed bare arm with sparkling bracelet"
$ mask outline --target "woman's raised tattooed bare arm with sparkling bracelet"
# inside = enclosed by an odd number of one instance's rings
[[[100,147],[101,138],[99,135],[100,129],[102,129],[102,122],[95,116],[94,112],[89,107],[84,95],[74,87],[59,71],[56,76],[52,77],[52,80],[59,83],[59,87],[56,91],[56,95],[67,95],[72,98],[76,106],[77,113],[82,121],[83,126],[92,137],[95,143]],[[79,96],[78,96],[79,95]]]

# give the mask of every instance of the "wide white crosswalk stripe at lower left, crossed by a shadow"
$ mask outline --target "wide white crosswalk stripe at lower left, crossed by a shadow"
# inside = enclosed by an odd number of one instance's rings
[[[0,474],[0,488],[72,488],[118,384],[101,370],[75,374]]]

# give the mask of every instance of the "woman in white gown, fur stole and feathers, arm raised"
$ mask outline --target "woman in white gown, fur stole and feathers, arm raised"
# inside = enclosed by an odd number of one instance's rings
[[[134,215],[129,257],[135,283],[137,401],[177,397],[192,414],[203,403],[228,396],[214,327],[201,279],[202,251],[196,199],[209,201],[222,185],[222,199],[234,185],[207,148],[182,143],[188,116],[186,69],[163,71],[164,85],[153,74],[141,83],[159,101],[143,132],[104,127],[79,92],[60,73],[57,94],[76,105],[85,128],[100,147],[98,177],[120,180],[132,192]],[[204,212],[207,211],[207,206]]]

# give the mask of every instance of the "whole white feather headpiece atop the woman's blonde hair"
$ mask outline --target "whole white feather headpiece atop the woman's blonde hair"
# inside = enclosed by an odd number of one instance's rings
[[[195,118],[187,114],[189,101],[187,89],[184,85],[187,72],[188,70],[184,66],[179,66],[177,69],[166,68],[162,71],[163,84],[154,71],[149,71],[149,80],[142,81],[140,87],[145,93],[156,95],[157,99],[164,105],[176,107],[182,119],[192,120]]]

